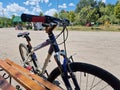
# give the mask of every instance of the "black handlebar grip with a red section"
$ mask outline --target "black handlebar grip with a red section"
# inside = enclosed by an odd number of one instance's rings
[[[30,15],[30,14],[22,14],[21,19],[23,22],[42,22],[42,23],[44,23],[46,21],[44,16],[36,16],[36,15]]]

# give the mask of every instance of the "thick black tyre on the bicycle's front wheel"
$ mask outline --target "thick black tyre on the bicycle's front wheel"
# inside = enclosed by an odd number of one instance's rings
[[[107,83],[112,90],[120,90],[120,80],[117,79],[114,75],[110,74],[108,71],[97,67],[95,65],[81,63],[81,62],[74,62],[70,64],[70,68],[73,72],[84,72],[85,74],[88,73],[91,76],[95,76],[95,78],[99,78]],[[60,75],[59,68],[55,68],[49,75],[48,81],[54,82],[55,79]],[[82,86],[80,86],[81,88]],[[101,86],[102,87],[102,86]],[[88,87],[87,87],[88,88]],[[103,88],[103,87],[102,87]],[[98,88],[94,90],[99,90]],[[86,90],[93,90],[93,89],[86,89]],[[85,89],[81,89],[85,90]],[[110,90],[110,89],[100,89],[100,90]]]

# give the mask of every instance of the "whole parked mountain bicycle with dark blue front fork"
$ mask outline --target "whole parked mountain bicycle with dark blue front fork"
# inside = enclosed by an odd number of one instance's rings
[[[60,80],[62,80],[63,84],[65,85],[65,87],[63,87],[63,85],[60,86],[62,89],[120,90],[120,80],[108,71],[95,65],[82,62],[74,62],[73,56],[67,56],[65,41],[67,40],[68,35],[65,37],[65,30],[68,32],[67,26],[70,24],[69,20],[59,19],[52,16],[35,16],[29,14],[22,14],[21,19],[23,22],[42,22],[42,26],[45,27],[45,31],[49,37],[49,39],[47,39],[45,42],[32,47],[30,43],[31,38],[29,36],[29,32],[23,32],[17,35],[18,37],[25,38],[27,41],[27,45],[23,43],[19,44],[22,64],[26,69],[41,77],[45,77],[44,74],[46,74],[47,77],[45,78],[58,86],[62,85],[62,82],[60,83]],[[60,34],[55,36],[53,34],[53,30],[57,27],[57,25],[61,25],[63,27],[63,30]],[[60,50],[59,45],[56,41],[56,39],[61,34],[63,34],[64,50]],[[48,55],[45,59],[45,63],[42,69],[40,69],[35,51],[48,45],[50,45]],[[55,52],[54,59],[58,67],[56,67],[53,71],[51,71],[50,74],[48,74],[46,67],[53,52]],[[63,57],[63,63],[60,60],[60,56]],[[56,80],[59,78],[59,76],[61,79]]]

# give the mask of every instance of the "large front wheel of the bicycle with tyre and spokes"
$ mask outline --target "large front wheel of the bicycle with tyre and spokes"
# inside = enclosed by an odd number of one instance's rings
[[[120,90],[120,81],[115,76],[97,66],[75,62],[70,64],[72,72],[76,75],[81,90]],[[48,80],[54,82],[64,90],[66,90],[62,79],[60,79],[60,71],[57,67],[54,69]],[[71,84],[72,80],[69,78]],[[72,85],[74,89],[74,85]]]

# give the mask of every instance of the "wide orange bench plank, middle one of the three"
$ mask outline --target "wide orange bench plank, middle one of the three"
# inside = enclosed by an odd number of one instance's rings
[[[19,82],[27,90],[45,90],[45,88],[43,88],[38,83],[34,82],[33,80],[20,73],[19,70],[16,70],[15,68],[11,67],[5,61],[0,60],[0,67],[3,68],[8,74],[10,74],[17,82]]]

